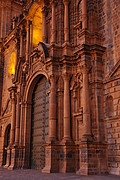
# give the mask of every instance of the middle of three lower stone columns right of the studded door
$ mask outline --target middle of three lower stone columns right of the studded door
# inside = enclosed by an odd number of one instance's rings
[[[70,89],[68,74],[63,75],[64,79],[64,140],[70,140]]]

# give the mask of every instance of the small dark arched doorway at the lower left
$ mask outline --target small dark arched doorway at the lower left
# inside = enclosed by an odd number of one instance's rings
[[[10,130],[11,130],[11,125],[9,124],[6,128],[5,136],[4,136],[3,165],[6,164],[6,160],[7,160],[7,147],[10,145]]]

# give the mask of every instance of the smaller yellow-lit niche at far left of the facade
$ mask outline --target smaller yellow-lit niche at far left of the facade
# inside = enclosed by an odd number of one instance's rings
[[[9,58],[9,64],[8,64],[8,75],[11,76],[12,74],[15,74],[15,59],[16,54],[13,52]]]

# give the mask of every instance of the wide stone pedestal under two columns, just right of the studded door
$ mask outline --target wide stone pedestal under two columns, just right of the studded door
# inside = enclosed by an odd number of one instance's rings
[[[71,140],[61,143],[51,141],[46,143],[45,167],[42,173],[75,172],[76,146]]]

